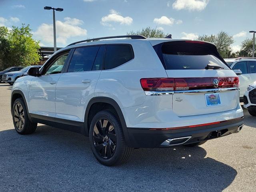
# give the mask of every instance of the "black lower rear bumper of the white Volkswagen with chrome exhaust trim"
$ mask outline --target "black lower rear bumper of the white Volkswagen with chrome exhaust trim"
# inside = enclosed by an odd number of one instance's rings
[[[241,117],[218,124],[174,130],[128,128],[128,134],[131,147],[134,148],[174,147],[237,133],[242,128],[243,122]],[[217,134],[218,132],[220,133]],[[173,140],[176,138],[184,139]]]

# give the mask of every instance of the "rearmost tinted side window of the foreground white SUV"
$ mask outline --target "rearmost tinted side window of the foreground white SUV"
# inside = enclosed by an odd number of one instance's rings
[[[133,51],[130,45],[108,45],[104,69],[116,68],[133,59]]]

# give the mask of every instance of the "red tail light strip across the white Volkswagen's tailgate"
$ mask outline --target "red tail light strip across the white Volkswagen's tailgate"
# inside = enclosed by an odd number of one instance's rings
[[[218,80],[218,86],[213,81]],[[233,88],[239,86],[238,77],[210,78],[142,78],[140,84],[144,91],[202,90]]]

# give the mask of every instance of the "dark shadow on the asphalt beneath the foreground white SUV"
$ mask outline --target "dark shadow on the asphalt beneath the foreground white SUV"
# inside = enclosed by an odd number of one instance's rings
[[[0,191],[222,191],[236,175],[201,147],[136,149],[107,167],[80,134],[50,126],[0,132]]]

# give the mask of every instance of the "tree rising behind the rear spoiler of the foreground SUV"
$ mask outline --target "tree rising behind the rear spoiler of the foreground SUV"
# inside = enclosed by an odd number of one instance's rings
[[[234,43],[232,35],[228,35],[226,32],[221,31],[218,34],[214,35],[202,35],[198,37],[198,40],[208,41],[214,43],[217,47],[218,52],[223,58],[228,58],[232,51],[231,44]]]

